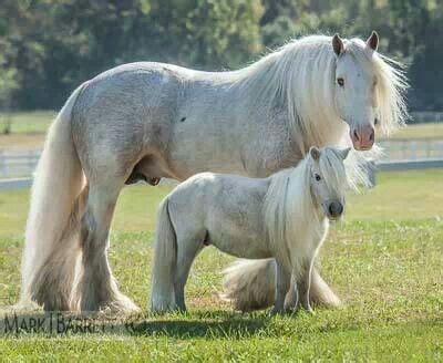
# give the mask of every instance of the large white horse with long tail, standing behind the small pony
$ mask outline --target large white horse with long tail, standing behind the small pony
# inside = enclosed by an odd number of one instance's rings
[[[405,116],[404,82],[367,42],[295,40],[235,72],[133,63],[85,82],[50,128],[32,188],[22,307],[137,309],[107,261],[109,230],[125,184],[184,180],[200,172],[264,177],[312,145],[369,149],[374,124]],[[388,61],[388,62],[387,62]],[[357,164],[356,164],[357,165]],[[317,271],[312,295],[337,297]]]

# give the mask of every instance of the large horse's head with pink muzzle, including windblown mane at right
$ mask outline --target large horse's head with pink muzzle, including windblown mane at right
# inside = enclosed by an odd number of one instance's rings
[[[352,145],[367,151],[375,139],[375,127],[389,133],[403,123],[406,111],[402,92],[406,83],[391,60],[377,53],[379,35],[360,39],[332,37],[336,54],[334,101],[337,113],[350,128]]]

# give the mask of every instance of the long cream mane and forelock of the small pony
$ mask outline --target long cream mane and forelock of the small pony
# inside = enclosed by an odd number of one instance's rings
[[[272,246],[282,250],[282,258],[290,258],[289,246],[300,243],[303,231],[320,231],[323,218],[311,194],[311,165],[308,154],[297,167],[280,170],[270,176],[270,186],[265,197],[264,217],[268,238]],[[322,148],[319,167],[330,190],[344,195],[348,178],[341,156],[334,148]],[[301,237],[302,238],[302,237]]]

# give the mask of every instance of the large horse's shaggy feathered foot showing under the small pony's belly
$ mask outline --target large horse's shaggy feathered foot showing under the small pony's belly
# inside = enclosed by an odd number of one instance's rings
[[[220,298],[235,310],[251,311],[269,308],[276,295],[276,261],[238,260],[223,271]]]

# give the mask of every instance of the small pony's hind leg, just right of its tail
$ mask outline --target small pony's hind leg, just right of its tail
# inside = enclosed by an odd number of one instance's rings
[[[176,307],[181,311],[186,311],[186,281],[194,259],[203,247],[203,240],[199,241],[197,238],[181,239],[177,236],[177,266],[175,269],[174,293]]]

